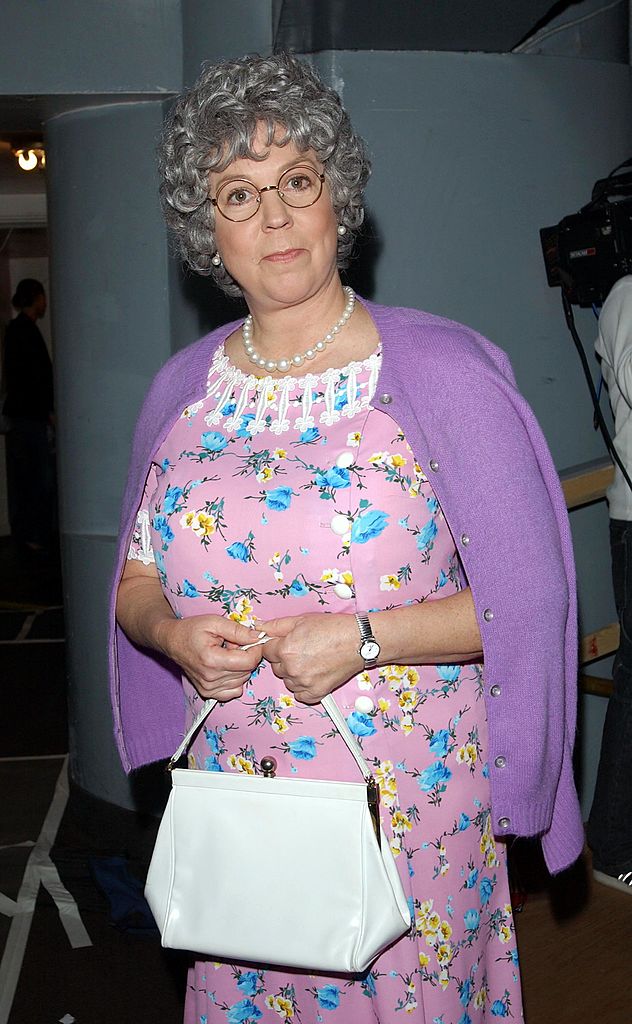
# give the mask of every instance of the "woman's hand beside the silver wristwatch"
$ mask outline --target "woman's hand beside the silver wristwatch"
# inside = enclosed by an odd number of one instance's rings
[[[301,703],[318,703],[363,671],[353,615],[292,615],[264,622],[261,629],[272,638],[261,647],[263,657]]]

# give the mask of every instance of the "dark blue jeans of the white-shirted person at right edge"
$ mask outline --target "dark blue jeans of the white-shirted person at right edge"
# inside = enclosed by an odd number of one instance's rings
[[[621,641],[613,667],[597,783],[588,820],[596,868],[620,874],[632,868],[632,522],[610,519],[615,603]]]

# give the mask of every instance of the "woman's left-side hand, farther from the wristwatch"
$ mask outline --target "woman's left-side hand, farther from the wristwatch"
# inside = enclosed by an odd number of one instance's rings
[[[180,666],[205,700],[233,700],[261,662],[262,647],[240,650],[257,634],[221,615],[166,620],[157,628],[160,648]],[[227,646],[226,646],[227,645]]]

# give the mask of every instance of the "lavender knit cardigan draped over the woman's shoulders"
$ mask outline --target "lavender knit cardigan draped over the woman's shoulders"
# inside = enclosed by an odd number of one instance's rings
[[[561,870],[584,836],[572,764],[575,570],[555,467],[503,351],[451,321],[365,306],[383,347],[374,402],[399,423],[429,473],[476,606],[494,830],[541,836],[550,870]],[[112,701],[126,771],[173,753],[184,706],[178,669],[117,627],[116,589],[152,457],[182,409],[204,397],[213,351],[235,327],[169,359],[136,427],[111,596]]]

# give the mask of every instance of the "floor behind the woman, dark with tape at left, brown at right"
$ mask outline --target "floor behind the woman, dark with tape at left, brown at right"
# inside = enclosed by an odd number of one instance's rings
[[[69,786],[67,750],[58,559],[0,538],[0,1024],[178,1024],[186,957],[140,898],[156,820]],[[632,898],[588,854],[511,863],[528,1024],[631,1024]]]

